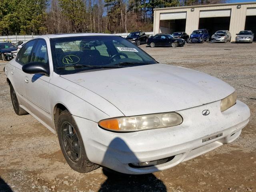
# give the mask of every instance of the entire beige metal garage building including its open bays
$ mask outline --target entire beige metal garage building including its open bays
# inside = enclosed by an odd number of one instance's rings
[[[241,30],[256,34],[256,2],[154,9],[154,34],[190,35],[197,29],[207,29],[210,36],[217,30],[229,30],[233,41]]]

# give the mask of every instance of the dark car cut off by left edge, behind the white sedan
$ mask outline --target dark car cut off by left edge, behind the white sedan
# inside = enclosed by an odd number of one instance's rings
[[[10,61],[13,59],[12,51],[18,50],[17,46],[10,42],[0,42],[0,59]]]

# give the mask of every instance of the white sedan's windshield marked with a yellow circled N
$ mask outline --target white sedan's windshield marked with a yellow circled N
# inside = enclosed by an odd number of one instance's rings
[[[53,38],[51,50],[57,74],[157,63],[136,45],[119,36]]]

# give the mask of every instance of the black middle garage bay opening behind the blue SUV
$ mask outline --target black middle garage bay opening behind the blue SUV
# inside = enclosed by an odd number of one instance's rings
[[[207,29],[211,36],[218,30],[229,30],[230,17],[208,17],[199,19],[199,29]]]

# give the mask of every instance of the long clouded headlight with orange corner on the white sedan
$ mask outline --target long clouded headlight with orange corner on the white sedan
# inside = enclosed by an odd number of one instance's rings
[[[98,125],[112,131],[134,132],[176,126],[181,124],[182,121],[183,119],[180,114],[168,112],[104,119],[100,120]]]

